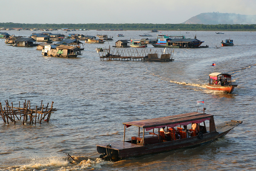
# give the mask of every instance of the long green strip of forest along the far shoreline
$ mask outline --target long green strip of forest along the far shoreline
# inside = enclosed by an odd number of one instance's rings
[[[256,24],[147,24],[147,23],[127,23],[127,24],[26,24],[26,23],[0,23],[0,28],[69,28],[88,30],[163,30],[163,31],[256,31]]]

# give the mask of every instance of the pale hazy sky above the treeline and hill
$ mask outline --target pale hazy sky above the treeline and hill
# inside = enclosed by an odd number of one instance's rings
[[[1,0],[0,23],[183,23],[204,12],[256,15],[256,0]]]

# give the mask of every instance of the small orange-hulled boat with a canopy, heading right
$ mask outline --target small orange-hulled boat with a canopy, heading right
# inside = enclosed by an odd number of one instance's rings
[[[221,81],[220,78],[221,77]],[[225,85],[224,80],[227,79],[227,83]],[[221,83],[219,83],[221,82]],[[205,85],[206,88],[215,90],[215,91],[225,91],[226,93],[232,93],[236,84],[232,84],[231,75],[230,74],[222,74],[220,72],[214,72],[209,74],[209,83]]]

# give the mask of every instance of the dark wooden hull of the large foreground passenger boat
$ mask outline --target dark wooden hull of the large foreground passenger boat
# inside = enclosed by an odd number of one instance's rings
[[[97,151],[102,154],[109,155],[108,159],[111,161],[117,161],[120,159],[128,157],[140,157],[147,154],[154,154],[160,152],[166,152],[170,150],[180,149],[180,148],[190,148],[193,146],[205,144],[212,142],[220,137],[225,136],[231,129],[241,124],[241,121],[231,121],[216,125],[216,131],[203,134],[200,138],[199,136],[189,137],[181,140],[166,141],[166,142],[155,142],[150,145],[137,145],[130,141],[125,142],[114,142],[111,146],[108,145],[97,145]]]

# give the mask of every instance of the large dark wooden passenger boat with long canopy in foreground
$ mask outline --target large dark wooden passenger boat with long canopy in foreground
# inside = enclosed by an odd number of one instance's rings
[[[207,142],[216,140],[219,137],[225,136],[231,129],[241,124],[241,121],[231,120],[215,126],[213,119],[214,115],[206,113],[186,113],[167,117],[152,118],[147,120],[138,120],[123,123],[124,137],[123,141],[111,142],[103,145],[96,145],[97,151],[101,154],[100,158],[110,161],[118,161],[127,157],[139,157],[146,154],[154,154],[175,150],[179,148],[193,147]],[[209,120],[209,127],[206,127],[205,121]],[[186,137],[186,131],[177,131],[182,135],[181,139],[176,138],[174,127],[178,125],[189,125],[198,123],[200,132],[192,137]],[[203,123],[200,125],[200,123]],[[125,130],[130,126],[136,126],[139,129],[138,135],[129,137],[125,140]],[[166,139],[165,133],[160,131],[160,128],[166,127],[172,130],[169,135],[169,140]],[[140,128],[143,134],[140,133]],[[178,129],[177,127],[176,129]],[[154,129],[158,131],[154,133]],[[147,132],[152,130],[152,132]],[[184,136],[185,134],[185,136]]]

